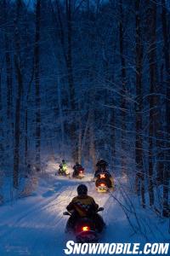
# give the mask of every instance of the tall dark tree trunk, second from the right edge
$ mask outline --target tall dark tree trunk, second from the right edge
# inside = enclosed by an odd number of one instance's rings
[[[148,1],[148,25],[150,29],[148,31],[148,41],[149,41],[149,66],[150,66],[150,96],[149,96],[149,195],[150,195],[150,206],[154,204],[154,137],[156,136],[156,3]]]

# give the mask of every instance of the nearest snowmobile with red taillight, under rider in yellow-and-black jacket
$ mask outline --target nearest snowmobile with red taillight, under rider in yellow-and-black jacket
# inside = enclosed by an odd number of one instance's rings
[[[97,212],[103,211],[103,207],[99,207]],[[63,215],[71,216],[70,212],[63,212]],[[99,240],[99,230],[90,218],[78,218],[73,230],[68,230],[67,226],[65,232],[73,232],[76,236],[77,242],[94,242]]]

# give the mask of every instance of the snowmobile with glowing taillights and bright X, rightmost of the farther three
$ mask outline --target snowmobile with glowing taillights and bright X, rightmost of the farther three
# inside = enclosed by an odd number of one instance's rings
[[[106,172],[101,172],[97,175],[95,186],[98,192],[109,192],[113,190],[113,184],[111,182],[111,177]]]

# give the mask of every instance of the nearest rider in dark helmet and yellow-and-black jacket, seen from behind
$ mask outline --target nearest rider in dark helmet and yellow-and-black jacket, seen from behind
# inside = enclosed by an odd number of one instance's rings
[[[66,224],[66,230],[72,230],[77,223],[78,218],[93,219],[96,228],[101,232],[105,226],[103,218],[96,213],[99,209],[94,201],[94,198],[88,195],[88,188],[81,184],[77,187],[77,196],[74,197],[71,203],[66,207],[68,212],[71,212],[71,217]]]

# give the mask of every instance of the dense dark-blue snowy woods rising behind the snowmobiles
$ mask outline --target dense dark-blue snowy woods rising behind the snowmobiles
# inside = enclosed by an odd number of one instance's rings
[[[166,0],[0,1],[0,201],[50,159],[104,158],[169,215]],[[12,191],[12,193],[11,193]],[[149,200],[146,194],[149,193]]]

